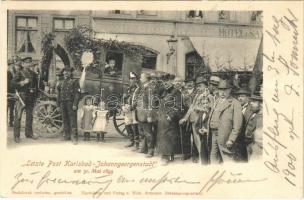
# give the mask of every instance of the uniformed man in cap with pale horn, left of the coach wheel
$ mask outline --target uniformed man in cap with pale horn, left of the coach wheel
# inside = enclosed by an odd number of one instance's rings
[[[13,87],[17,91],[17,105],[14,119],[14,139],[16,143],[20,142],[21,117],[25,109],[25,136],[31,139],[37,139],[33,133],[33,109],[38,96],[38,78],[37,74],[30,68],[32,58],[22,59],[22,68],[16,72],[13,78]]]

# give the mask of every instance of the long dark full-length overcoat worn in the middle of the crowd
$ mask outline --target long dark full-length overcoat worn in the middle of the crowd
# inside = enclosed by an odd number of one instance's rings
[[[161,155],[181,153],[179,120],[184,114],[181,110],[182,94],[177,89],[170,90],[162,98],[158,113],[157,150]],[[171,118],[170,121],[167,119],[168,116]]]

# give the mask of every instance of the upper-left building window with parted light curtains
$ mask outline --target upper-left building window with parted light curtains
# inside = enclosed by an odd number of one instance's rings
[[[38,18],[16,17],[16,51],[34,53],[38,44]]]

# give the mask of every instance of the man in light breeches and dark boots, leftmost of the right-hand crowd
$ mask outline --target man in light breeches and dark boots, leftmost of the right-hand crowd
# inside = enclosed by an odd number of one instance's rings
[[[123,109],[125,110],[125,123],[126,130],[130,139],[130,143],[126,147],[133,147],[134,150],[139,149],[139,129],[138,122],[135,118],[135,108],[132,107],[132,102],[134,101],[134,92],[139,87],[138,75],[135,72],[130,72],[129,75],[130,86],[127,89],[127,94],[125,95],[125,105]]]

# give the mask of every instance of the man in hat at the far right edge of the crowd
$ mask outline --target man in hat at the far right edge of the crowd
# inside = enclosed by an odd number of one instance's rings
[[[263,99],[260,92],[255,92],[250,100],[251,115],[245,123],[245,142],[248,160],[253,160],[263,154]]]

